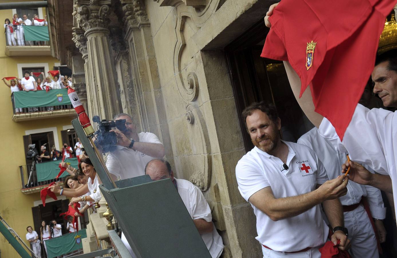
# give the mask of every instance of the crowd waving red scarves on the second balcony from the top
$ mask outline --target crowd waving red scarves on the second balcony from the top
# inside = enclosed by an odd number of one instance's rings
[[[72,85],[72,78],[61,75],[60,71],[49,71],[48,76],[44,81],[41,80],[40,75],[45,76],[44,72],[29,72],[25,71],[25,77],[19,79],[17,77],[4,77],[3,81],[11,92],[15,91],[50,91],[52,89],[64,89]],[[7,81],[10,81],[8,83]],[[13,96],[12,96],[13,101]],[[37,112],[37,111],[52,111],[53,106],[48,107],[29,107],[27,109],[15,108],[15,113]]]

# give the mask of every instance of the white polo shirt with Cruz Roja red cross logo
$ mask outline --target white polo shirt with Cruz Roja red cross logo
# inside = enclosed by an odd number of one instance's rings
[[[278,157],[254,147],[237,163],[236,178],[241,196],[248,202],[252,194],[270,186],[275,198],[285,198],[312,192],[317,184],[328,180],[327,173],[314,151],[293,142],[288,146],[287,166]],[[320,205],[303,213],[273,221],[252,205],[256,215],[258,240],[275,251],[294,252],[324,244],[328,227],[321,217]]]

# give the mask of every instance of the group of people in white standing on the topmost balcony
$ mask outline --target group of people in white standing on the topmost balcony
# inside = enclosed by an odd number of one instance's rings
[[[23,18],[23,19],[22,19]],[[23,26],[46,26],[47,24],[47,16],[44,16],[44,19],[39,19],[39,16],[35,14],[33,19],[30,20],[27,18],[27,15],[18,17],[17,14],[13,15],[12,22],[10,19],[6,19],[4,21],[4,28],[6,33],[6,42],[9,46],[25,46],[25,45],[43,45],[42,41],[27,41],[25,42]]]

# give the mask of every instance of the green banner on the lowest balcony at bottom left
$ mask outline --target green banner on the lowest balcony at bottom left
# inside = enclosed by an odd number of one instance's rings
[[[62,256],[68,252],[83,249],[83,242],[81,240],[86,237],[87,232],[85,232],[85,229],[81,229],[79,232],[67,233],[60,237],[46,240],[48,258]]]

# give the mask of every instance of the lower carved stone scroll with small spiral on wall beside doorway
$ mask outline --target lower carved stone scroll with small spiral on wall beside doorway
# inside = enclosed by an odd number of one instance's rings
[[[200,162],[202,162],[203,165],[191,175],[189,180],[200,188],[200,190],[206,191],[210,187],[212,175],[212,157],[210,155],[211,147],[207,125],[198,107],[193,107],[193,105],[187,105],[185,117],[187,122],[192,126],[191,130],[193,130],[195,134],[199,134],[198,139],[201,139],[202,144],[199,146],[200,143],[195,142],[195,144],[198,144],[196,146],[197,149],[200,149],[198,150],[199,153],[195,153],[195,155],[200,157]]]

